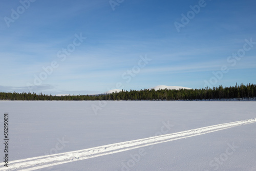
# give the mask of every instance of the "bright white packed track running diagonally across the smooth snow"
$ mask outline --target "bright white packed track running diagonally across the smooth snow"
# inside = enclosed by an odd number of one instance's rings
[[[1,170],[2,169],[26,170],[26,171],[35,170],[35,169],[50,167],[50,166],[59,165],[63,163],[69,163],[73,161],[85,160],[85,159],[90,159],[94,157],[129,151],[130,149],[159,144],[163,142],[198,136],[198,135],[216,132],[224,129],[229,129],[230,127],[254,123],[254,122],[256,122],[256,118],[237,121],[237,122],[212,125],[207,127],[201,127],[199,129],[193,129],[193,130],[188,130],[188,131],[183,131],[183,132],[178,132],[173,134],[165,134],[165,135],[155,136],[150,138],[143,138],[143,139],[114,143],[109,145],[102,145],[102,146],[93,147],[93,148],[81,149],[79,151],[15,160],[15,161],[10,161],[8,164],[9,165],[8,167],[1,166],[0,169]]]

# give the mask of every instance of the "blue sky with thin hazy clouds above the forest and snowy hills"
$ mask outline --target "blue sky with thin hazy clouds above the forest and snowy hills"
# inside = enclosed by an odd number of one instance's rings
[[[0,91],[94,94],[256,83],[255,5],[3,0]]]

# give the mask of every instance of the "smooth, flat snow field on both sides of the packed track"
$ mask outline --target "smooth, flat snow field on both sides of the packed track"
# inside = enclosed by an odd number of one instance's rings
[[[199,129],[256,118],[255,104],[255,101],[0,101],[0,126],[3,135],[4,113],[8,113],[9,166],[16,160],[96,147],[99,151],[93,153],[98,157],[72,158],[72,162],[38,170],[256,170],[253,120],[250,124],[202,135]],[[182,135],[177,140],[109,155],[101,155],[104,152],[98,147],[104,145],[106,149],[113,143],[193,129],[199,132],[186,132],[193,137]],[[4,136],[0,137],[4,142]],[[4,144],[1,144],[3,159]],[[0,170],[6,169],[3,165],[4,162]]]

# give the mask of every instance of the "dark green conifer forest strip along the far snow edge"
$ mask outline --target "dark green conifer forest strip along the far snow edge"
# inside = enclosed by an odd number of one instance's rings
[[[223,100],[223,99],[253,99],[256,97],[256,84],[242,83],[234,87],[222,86],[204,89],[180,90],[130,90],[101,95],[70,95],[55,96],[42,93],[0,92],[0,100]]]

